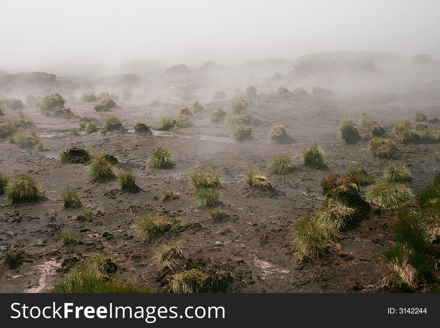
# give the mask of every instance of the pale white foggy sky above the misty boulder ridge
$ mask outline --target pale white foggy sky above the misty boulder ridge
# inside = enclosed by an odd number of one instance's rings
[[[376,50],[440,59],[438,0],[1,0],[0,68],[296,58]]]

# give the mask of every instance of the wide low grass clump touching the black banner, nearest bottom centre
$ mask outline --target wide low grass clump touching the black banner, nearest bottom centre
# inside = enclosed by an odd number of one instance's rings
[[[230,277],[227,271],[195,267],[168,276],[166,282],[172,293],[211,293],[225,286]]]

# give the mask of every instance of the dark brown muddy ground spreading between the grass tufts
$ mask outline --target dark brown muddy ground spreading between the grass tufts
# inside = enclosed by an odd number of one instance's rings
[[[428,116],[440,115],[440,84],[408,83],[405,87],[349,91],[343,89],[331,96],[271,96],[264,104],[255,99],[247,111],[252,116],[252,138],[233,142],[230,128],[224,123],[211,123],[206,112],[194,118],[193,126],[167,132],[157,131],[159,119],[175,116],[184,103],[149,101],[116,101],[111,112],[97,113],[94,103],[66,102],[73,113],[70,118],[47,118],[37,107],[24,112],[35,123],[36,131],[51,149],[47,152],[20,149],[7,140],[0,140],[0,172],[9,177],[31,173],[42,187],[45,199],[36,204],[9,205],[0,198],[0,292],[45,292],[62,281],[64,273],[91,252],[112,254],[117,260],[116,277],[148,284],[160,290],[162,274],[154,270],[151,251],[158,243],[180,239],[185,258],[212,261],[230,271],[233,279],[226,292],[380,292],[385,268],[381,252],[391,245],[393,217],[390,213],[370,214],[350,224],[341,234],[340,247],[315,263],[300,262],[289,249],[289,228],[299,218],[315,211],[322,200],[320,181],[330,173],[344,174],[355,164],[380,177],[389,160],[373,157],[366,139],[346,145],[338,136],[341,119],[350,116],[356,121],[365,112],[393,136],[392,126],[398,121],[414,121],[415,111]],[[310,90],[311,91],[311,88]],[[202,93],[202,91],[199,91]],[[199,99],[205,110],[216,107],[230,113],[229,100],[212,102],[207,94]],[[192,101],[191,101],[192,102]],[[4,123],[16,111],[6,109],[0,117]],[[102,133],[109,116],[121,118],[127,131]],[[78,127],[82,119],[94,121],[100,130],[93,134],[69,136],[67,131]],[[137,121],[153,129],[152,136],[133,130]],[[268,134],[276,123],[283,123],[293,141],[288,145],[270,142]],[[301,164],[301,149],[317,142],[327,154],[327,169],[301,166],[286,176],[269,175],[277,195],[251,196],[242,181],[249,168],[264,171],[268,159],[287,154]],[[127,194],[115,182],[95,183],[88,177],[88,166],[58,163],[59,151],[84,145],[94,154],[108,151],[119,159],[116,168],[132,170],[142,191]],[[170,170],[146,166],[153,147],[166,147],[174,155],[176,165]],[[433,153],[438,145],[403,145],[394,162],[407,165],[414,176],[408,184],[417,194],[440,172]],[[210,163],[222,181],[221,201],[229,215],[222,222],[213,222],[206,210],[196,208],[191,199],[188,174],[202,163]],[[79,210],[63,209],[62,191],[74,188],[83,197],[83,205],[101,209],[90,222],[79,223],[73,216]],[[162,191],[174,189],[181,198],[162,202]],[[362,188],[364,189],[364,188]],[[133,237],[133,221],[143,212],[164,212],[181,215],[184,225],[175,232],[157,236],[148,243]],[[78,242],[62,246],[58,241],[64,232],[75,232]],[[109,234],[104,234],[107,232]],[[16,269],[3,265],[4,253],[14,245],[27,252],[27,261]],[[62,265],[63,264],[63,265]]]

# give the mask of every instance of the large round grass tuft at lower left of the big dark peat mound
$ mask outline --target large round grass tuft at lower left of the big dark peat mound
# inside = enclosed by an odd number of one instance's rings
[[[335,226],[319,216],[299,219],[290,231],[291,248],[301,260],[316,260],[325,254],[337,236]]]

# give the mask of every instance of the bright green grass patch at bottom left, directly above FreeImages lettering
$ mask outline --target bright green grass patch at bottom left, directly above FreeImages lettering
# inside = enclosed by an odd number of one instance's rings
[[[72,271],[55,286],[52,293],[62,294],[129,294],[129,293],[152,293],[146,286],[109,279],[92,265],[83,265]]]

